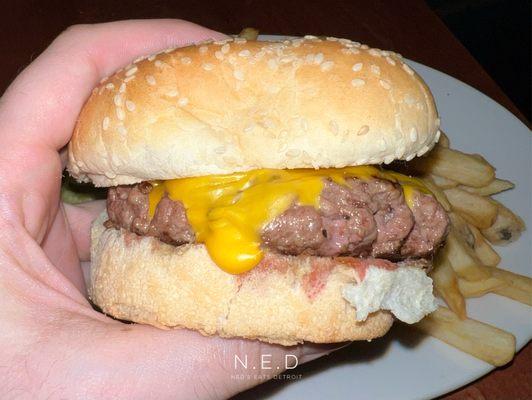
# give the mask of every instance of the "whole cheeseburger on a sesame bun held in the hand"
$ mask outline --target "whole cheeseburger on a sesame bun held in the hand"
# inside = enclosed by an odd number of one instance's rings
[[[109,187],[90,298],[120,319],[283,345],[419,321],[448,217],[383,165],[429,151],[438,128],[398,54],[345,39],[137,60],[94,89],[69,144],[70,174]]]

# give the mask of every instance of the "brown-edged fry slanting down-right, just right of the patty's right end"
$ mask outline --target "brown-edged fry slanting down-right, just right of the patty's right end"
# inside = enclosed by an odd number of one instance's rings
[[[490,271],[482,265],[473,249],[461,240],[453,227],[447,236],[447,243],[440,251],[450,261],[460,278],[478,281],[491,276]]]

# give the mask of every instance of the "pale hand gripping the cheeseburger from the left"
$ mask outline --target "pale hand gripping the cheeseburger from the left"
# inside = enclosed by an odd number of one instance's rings
[[[59,196],[84,101],[140,55],[223,36],[179,20],[75,26],[0,99],[0,398],[226,398],[261,382],[231,375],[271,376],[286,354],[303,363],[332,351],[124,324],[86,299],[89,226],[105,205]]]

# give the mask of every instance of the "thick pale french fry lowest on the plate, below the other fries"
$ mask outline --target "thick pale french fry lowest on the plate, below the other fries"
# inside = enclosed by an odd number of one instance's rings
[[[496,367],[515,354],[514,335],[474,319],[461,320],[445,307],[438,307],[414,327]]]

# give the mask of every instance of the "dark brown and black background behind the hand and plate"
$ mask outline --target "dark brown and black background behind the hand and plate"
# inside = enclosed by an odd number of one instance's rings
[[[126,18],[180,17],[226,33],[237,33],[243,26],[254,26],[263,33],[345,36],[376,47],[380,45],[398,50],[407,57],[438,68],[438,65],[431,64],[430,56],[419,59],[415,51],[409,51],[408,46],[394,48],[398,46],[394,46],[393,39],[378,37],[376,40],[372,35],[377,31],[381,36],[385,35],[382,33],[382,26],[369,26],[376,19],[372,15],[375,10],[382,11],[382,24],[394,24],[394,18],[408,16],[412,1],[2,0],[1,3],[4,4],[1,8],[3,17],[0,17],[0,50],[4,65],[0,76],[0,93],[67,26]],[[360,10],[358,15],[349,12],[348,5],[354,3],[357,3],[356,8]],[[397,7],[397,4],[401,4],[401,7]],[[530,1],[429,0],[427,4],[530,120]],[[390,8],[395,15],[387,17]],[[414,10],[414,16],[417,11],[419,10]],[[398,15],[401,13],[405,15]],[[313,23],[316,16],[322,14],[336,19],[338,23],[334,26]],[[261,26],[265,19],[268,20],[268,26]],[[360,25],[358,37],[352,37],[353,24]],[[421,27],[430,30],[430,26]],[[424,32],[421,27],[416,35],[430,38],[432,33]],[[396,33],[397,30],[412,29],[415,27],[395,26],[388,27],[387,30],[393,36],[402,34]],[[409,34],[413,36],[412,32]],[[380,43],[375,43],[376,41]],[[423,42],[422,37],[420,42]],[[423,45],[430,46],[431,43],[427,41]],[[450,54],[449,57],[452,58],[453,55]],[[463,68],[460,65],[457,67]],[[463,79],[452,68],[445,72]],[[468,83],[475,86],[475,82]]]

